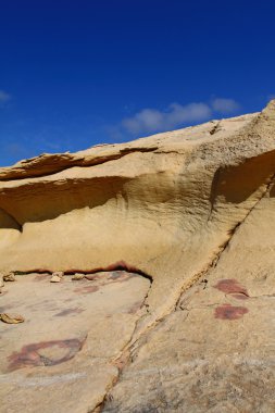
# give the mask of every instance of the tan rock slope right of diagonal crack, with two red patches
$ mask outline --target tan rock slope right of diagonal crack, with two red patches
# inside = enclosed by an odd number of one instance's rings
[[[103,412],[275,408],[275,198],[239,226],[176,310],[140,337]]]

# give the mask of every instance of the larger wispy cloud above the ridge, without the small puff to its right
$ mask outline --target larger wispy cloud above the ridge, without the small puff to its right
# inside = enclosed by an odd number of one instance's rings
[[[143,109],[134,116],[124,118],[122,125],[130,134],[153,133],[173,129],[186,123],[205,121],[211,114],[211,108],[207,103],[172,103],[166,111]]]

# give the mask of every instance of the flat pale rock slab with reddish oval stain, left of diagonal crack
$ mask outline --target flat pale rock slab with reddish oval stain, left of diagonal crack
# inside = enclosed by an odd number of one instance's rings
[[[113,272],[62,284],[29,274],[5,287],[0,313],[1,412],[87,412],[118,375],[115,358],[130,341],[150,281]]]

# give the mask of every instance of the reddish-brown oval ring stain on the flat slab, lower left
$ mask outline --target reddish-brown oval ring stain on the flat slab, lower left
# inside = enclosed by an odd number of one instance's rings
[[[68,340],[52,340],[41,341],[28,346],[24,346],[20,352],[13,352],[9,358],[10,372],[27,366],[52,366],[60,363],[64,363],[75,356],[75,354],[82,350],[84,340],[76,338]],[[61,351],[62,355],[59,356],[46,356],[42,354],[43,350],[53,350],[54,348]],[[40,353],[39,353],[40,352]]]

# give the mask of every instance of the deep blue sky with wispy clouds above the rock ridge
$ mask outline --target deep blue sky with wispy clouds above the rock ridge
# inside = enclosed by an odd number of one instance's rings
[[[0,165],[261,110],[275,2],[9,0]]]

